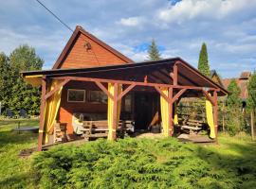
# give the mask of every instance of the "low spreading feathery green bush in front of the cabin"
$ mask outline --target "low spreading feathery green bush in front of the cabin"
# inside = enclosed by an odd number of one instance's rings
[[[119,142],[98,140],[83,146],[56,146],[36,155],[33,169],[42,188],[241,186],[243,181],[237,177],[237,169],[241,167],[230,166],[230,160],[224,157],[228,163],[226,169],[224,163],[218,163],[220,160],[218,154],[204,147],[181,144],[175,139],[128,138]],[[246,169],[247,174],[255,173],[249,166]],[[256,179],[255,175],[251,177]]]

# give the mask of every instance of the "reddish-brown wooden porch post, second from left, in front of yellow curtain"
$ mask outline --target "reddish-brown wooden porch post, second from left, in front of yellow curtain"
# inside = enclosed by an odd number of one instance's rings
[[[114,84],[114,95],[113,95],[113,122],[112,122],[112,138],[110,140],[115,141],[117,139],[117,120],[118,120],[118,90],[119,84]]]

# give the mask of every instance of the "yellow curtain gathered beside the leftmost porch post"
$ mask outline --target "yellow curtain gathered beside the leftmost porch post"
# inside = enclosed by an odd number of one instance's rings
[[[61,80],[52,80],[51,85],[49,86],[49,91],[52,91],[55,87],[57,87],[60,84]],[[61,97],[62,97],[62,90],[63,87],[59,91],[57,91],[55,94],[52,94],[47,100],[46,100],[46,109],[45,109],[45,120],[44,120],[44,131],[46,133],[45,137],[45,144],[48,143],[48,133],[51,129],[53,129],[54,122],[57,117],[57,113],[60,108],[61,104]]]

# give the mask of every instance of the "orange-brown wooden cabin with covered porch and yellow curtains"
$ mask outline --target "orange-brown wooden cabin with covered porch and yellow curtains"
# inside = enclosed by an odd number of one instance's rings
[[[213,106],[216,135],[217,96],[228,94],[185,60],[135,63],[81,26],[76,27],[53,69],[23,72],[22,76],[42,88],[39,150],[52,143],[52,136],[63,125],[70,139],[86,135],[97,124],[103,128],[99,130],[107,130],[109,140],[116,140],[121,123],[133,122],[134,129],[147,129],[156,112],[162,133],[172,136],[174,104],[181,97],[207,97]]]

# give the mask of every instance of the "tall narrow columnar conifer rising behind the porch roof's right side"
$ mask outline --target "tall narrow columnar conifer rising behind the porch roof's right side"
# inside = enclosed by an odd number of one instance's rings
[[[207,45],[206,43],[202,44],[199,60],[198,60],[198,70],[203,75],[210,77],[210,65],[208,61]]]

